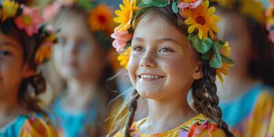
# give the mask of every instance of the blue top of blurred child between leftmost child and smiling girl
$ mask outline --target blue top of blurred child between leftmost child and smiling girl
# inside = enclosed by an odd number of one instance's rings
[[[62,136],[86,136],[90,130],[88,127],[97,124],[99,117],[98,105],[99,100],[93,99],[88,110],[71,114],[62,108],[62,100],[57,99],[53,104],[53,112],[56,117],[56,119],[53,119],[53,123]]]

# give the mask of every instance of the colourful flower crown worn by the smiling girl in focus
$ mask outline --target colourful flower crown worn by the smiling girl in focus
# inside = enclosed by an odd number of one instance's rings
[[[171,5],[174,14],[179,14],[184,18],[184,24],[188,26],[188,40],[192,42],[193,48],[201,53],[201,59],[208,60],[210,66],[217,71],[217,75],[221,82],[223,76],[228,74],[228,66],[232,66],[236,62],[228,58],[230,55],[230,47],[228,42],[223,42],[216,38],[216,33],[219,33],[219,28],[216,22],[221,19],[214,15],[214,7],[209,7],[209,1],[202,0],[149,0],[140,1],[136,6],[136,0],[123,0],[123,5],[120,5],[121,10],[116,10],[117,15],[114,18],[116,23],[120,23],[115,28],[112,38],[113,47],[120,52],[118,60],[121,66],[127,69],[131,47],[129,41],[132,39],[132,21],[136,14],[144,8],[165,7]]]

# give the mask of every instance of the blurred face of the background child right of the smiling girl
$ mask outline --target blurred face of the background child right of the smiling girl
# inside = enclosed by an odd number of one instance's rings
[[[246,74],[249,60],[251,59],[251,36],[248,32],[244,18],[236,13],[219,12],[223,21],[219,23],[221,31],[218,36],[229,42],[231,47],[230,57],[238,63],[231,68],[231,75]]]

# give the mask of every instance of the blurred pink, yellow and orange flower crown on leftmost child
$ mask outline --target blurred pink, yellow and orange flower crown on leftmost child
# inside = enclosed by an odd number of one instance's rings
[[[4,0],[0,2],[0,30],[3,34],[10,31],[10,25],[15,24],[16,29],[21,29],[34,38],[39,47],[36,51],[35,62],[42,64],[51,56],[51,47],[57,42],[53,27],[44,25],[44,20],[39,16],[37,9],[20,5],[16,1]]]

